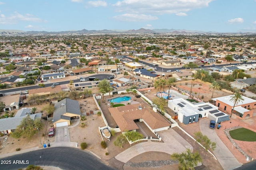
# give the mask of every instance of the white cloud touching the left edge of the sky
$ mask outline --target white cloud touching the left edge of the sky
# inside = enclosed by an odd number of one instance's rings
[[[14,12],[11,16],[4,16],[1,14],[0,23],[1,24],[14,24],[18,21],[31,21],[31,22],[47,22],[46,20],[42,20],[40,18],[33,17],[31,14],[19,14],[18,12]]]

